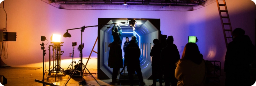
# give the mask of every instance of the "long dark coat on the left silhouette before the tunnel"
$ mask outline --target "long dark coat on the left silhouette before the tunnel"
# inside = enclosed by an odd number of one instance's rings
[[[121,45],[114,41],[108,45],[109,56],[108,56],[108,67],[110,68],[122,68],[123,67],[123,57]]]

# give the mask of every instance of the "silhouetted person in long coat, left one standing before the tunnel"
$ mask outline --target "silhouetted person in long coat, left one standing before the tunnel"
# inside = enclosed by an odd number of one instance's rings
[[[121,45],[119,45],[120,38],[117,36],[114,38],[114,42],[110,43],[108,47],[109,56],[108,56],[108,67],[113,68],[112,72],[112,84],[117,83],[117,74],[120,68],[123,67],[123,56]]]

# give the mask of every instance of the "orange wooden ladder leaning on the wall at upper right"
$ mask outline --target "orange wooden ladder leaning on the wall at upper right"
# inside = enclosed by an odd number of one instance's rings
[[[219,3],[219,1],[220,1],[220,3]],[[223,1],[223,3],[221,1]],[[228,47],[228,43],[233,41],[233,39],[232,39],[233,31],[231,28],[231,23],[230,23],[230,19],[229,19],[229,15],[228,15],[226,1],[225,0],[216,0],[216,2],[217,2],[219,13],[220,13],[221,25],[222,25],[222,29],[223,29],[223,33],[224,33],[226,47]]]

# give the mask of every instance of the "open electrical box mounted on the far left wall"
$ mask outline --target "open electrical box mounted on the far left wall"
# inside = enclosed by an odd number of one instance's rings
[[[16,41],[16,32],[0,31],[0,42]]]

